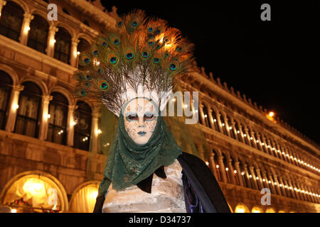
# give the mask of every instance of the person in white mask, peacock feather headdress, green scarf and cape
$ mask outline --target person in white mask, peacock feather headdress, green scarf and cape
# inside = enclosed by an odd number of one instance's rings
[[[161,116],[193,45],[166,22],[133,11],[80,55],[76,94],[119,117],[95,213],[230,212],[210,169],[183,153]]]

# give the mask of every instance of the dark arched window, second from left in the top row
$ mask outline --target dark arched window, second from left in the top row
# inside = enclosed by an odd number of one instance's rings
[[[41,16],[34,15],[34,18],[30,23],[28,47],[46,53],[48,31],[48,22]]]

